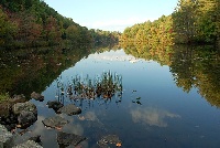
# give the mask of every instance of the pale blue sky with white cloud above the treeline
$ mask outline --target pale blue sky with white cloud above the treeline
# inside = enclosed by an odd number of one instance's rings
[[[170,14],[178,0],[44,0],[59,14],[88,29],[120,31]]]

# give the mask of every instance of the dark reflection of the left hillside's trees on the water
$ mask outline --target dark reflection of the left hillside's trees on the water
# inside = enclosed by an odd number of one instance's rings
[[[64,70],[88,55],[84,49],[0,51],[0,91],[26,96],[43,92]]]

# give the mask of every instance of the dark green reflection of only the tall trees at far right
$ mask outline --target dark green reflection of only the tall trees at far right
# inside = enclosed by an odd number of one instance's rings
[[[220,106],[220,59],[211,46],[176,46],[170,72],[178,87],[193,86],[211,105]]]

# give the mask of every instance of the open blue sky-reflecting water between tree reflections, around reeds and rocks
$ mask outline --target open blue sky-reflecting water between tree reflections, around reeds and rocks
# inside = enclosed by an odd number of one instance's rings
[[[42,135],[44,147],[58,147],[56,130],[42,124],[44,118],[55,115],[46,102],[58,99],[57,83],[67,86],[76,75],[94,78],[110,71],[122,76],[121,98],[59,98],[65,105],[76,104],[82,109],[80,115],[61,115],[70,121],[63,131],[88,138],[80,144],[82,147],[97,147],[102,136],[112,134],[119,136],[124,148],[219,147],[220,110],[202,98],[197,88],[186,93],[177,87],[169,70],[167,65],[127,55],[123,50],[90,54],[62,72],[42,93],[43,103],[32,101],[38,107],[33,133]]]

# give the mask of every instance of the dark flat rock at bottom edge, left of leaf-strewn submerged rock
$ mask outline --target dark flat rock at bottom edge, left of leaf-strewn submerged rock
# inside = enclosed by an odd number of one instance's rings
[[[59,146],[77,146],[79,142],[86,140],[86,137],[75,135],[75,134],[66,134],[63,131],[57,133],[57,142]]]

